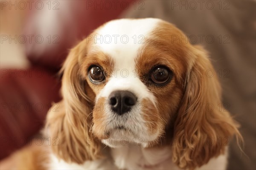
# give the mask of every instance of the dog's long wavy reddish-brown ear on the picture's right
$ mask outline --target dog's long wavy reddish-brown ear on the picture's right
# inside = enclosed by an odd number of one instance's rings
[[[173,161],[184,169],[195,169],[224,153],[232,135],[241,139],[238,124],[221,105],[220,84],[207,54],[199,47],[192,49],[195,61],[186,75],[172,143]]]

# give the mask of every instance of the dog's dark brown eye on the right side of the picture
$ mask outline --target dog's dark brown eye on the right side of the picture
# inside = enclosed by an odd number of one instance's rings
[[[163,66],[157,66],[153,69],[153,71],[150,74],[150,79],[155,84],[163,84],[167,82],[171,77],[171,72],[169,69],[163,67]]]

